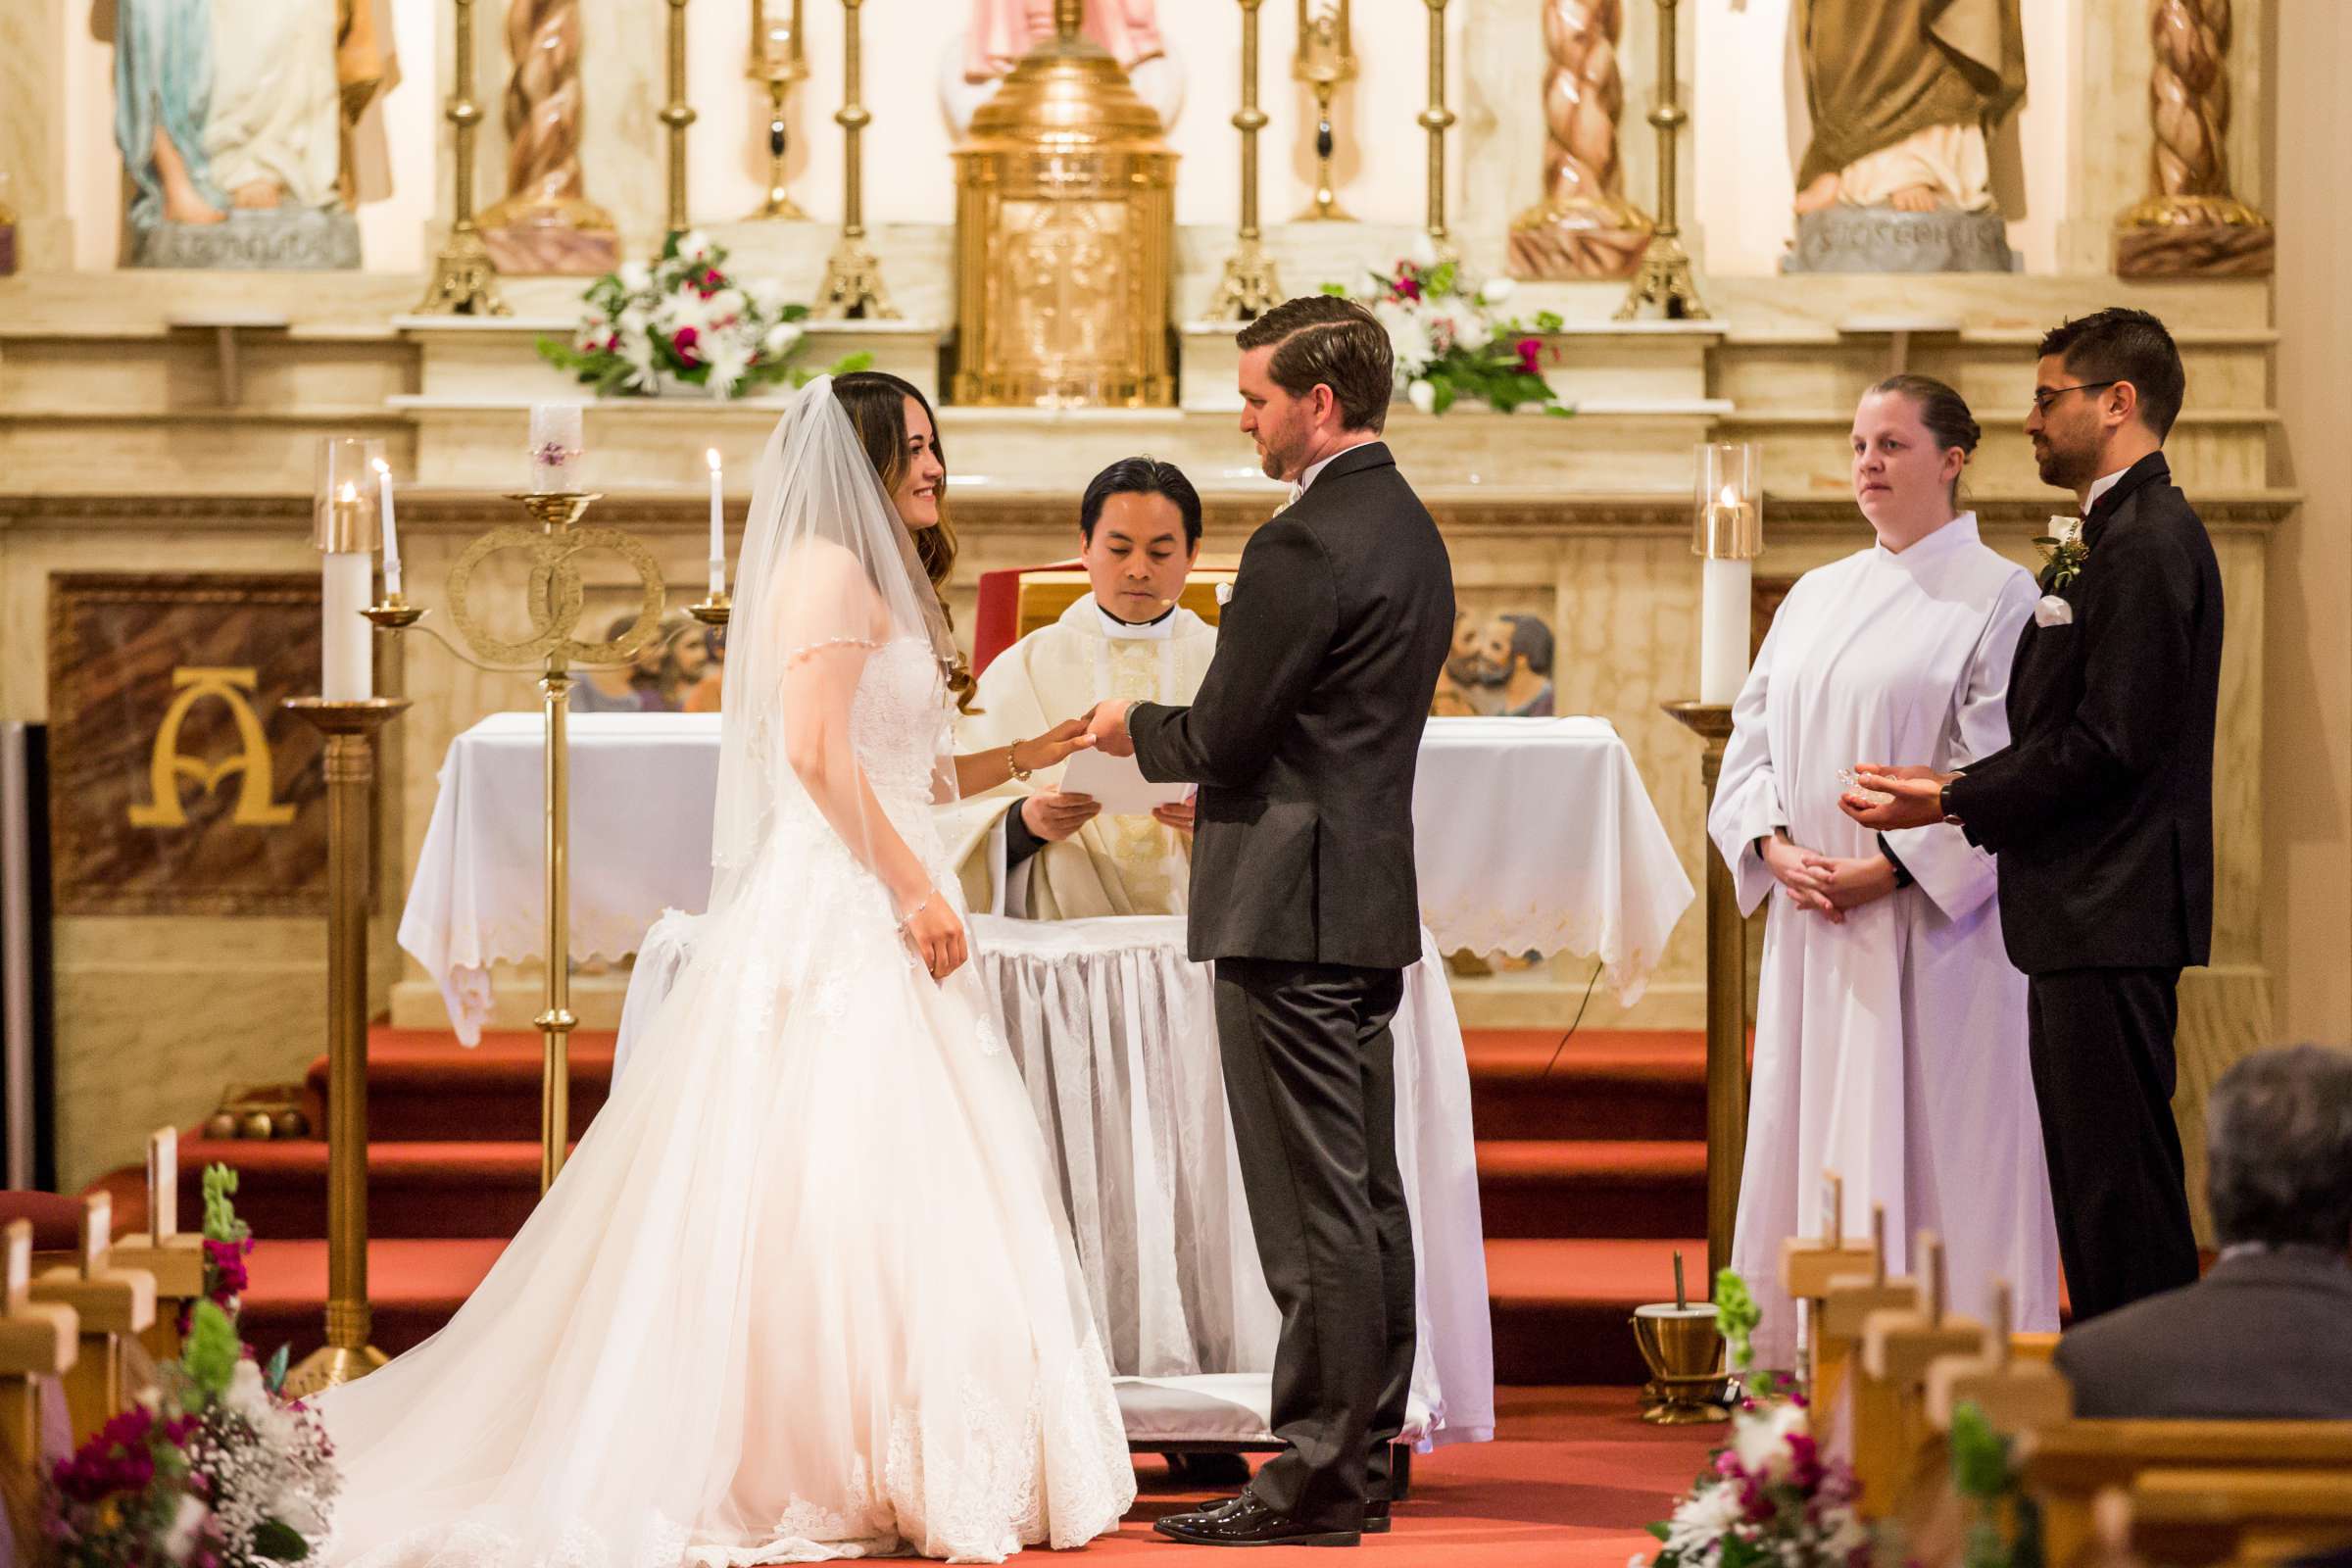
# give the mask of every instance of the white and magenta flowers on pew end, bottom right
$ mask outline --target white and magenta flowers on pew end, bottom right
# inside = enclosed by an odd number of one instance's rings
[[[1755,1298],[1731,1269],[1715,1279],[1715,1314],[1731,1363],[1755,1361]],[[1649,1526],[1649,1568],[1863,1568],[1870,1530],[1853,1502],[1860,1486],[1844,1462],[1820,1458],[1813,1413],[1792,1389],[1750,1392],[1731,1413],[1731,1443],[1698,1472],[1675,1516]],[[1639,1568],[1637,1554],[1628,1568]]]

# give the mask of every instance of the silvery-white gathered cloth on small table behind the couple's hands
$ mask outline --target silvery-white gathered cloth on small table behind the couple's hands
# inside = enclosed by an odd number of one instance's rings
[[[1414,1415],[1435,1446],[1494,1434],[1494,1338],[1470,1070],[1428,931],[1421,950],[1392,1034],[1421,1321]],[[1061,1171],[1112,1371],[1268,1373],[1279,1321],[1225,1114],[1214,976],[1185,959],[1183,917],[981,914],[971,961]]]

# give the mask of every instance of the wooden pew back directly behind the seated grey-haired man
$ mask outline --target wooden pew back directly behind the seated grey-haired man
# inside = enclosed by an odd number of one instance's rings
[[[2166,1497],[2197,1472],[2345,1476],[2352,1420],[2067,1420],[2023,1436],[2020,1469],[2042,1505],[2044,1559],[2065,1568],[2096,1544],[2100,1493],[2150,1472],[2166,1474]]]

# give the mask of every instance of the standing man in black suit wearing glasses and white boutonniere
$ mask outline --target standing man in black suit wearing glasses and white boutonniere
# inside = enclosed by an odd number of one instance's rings
[[[1964,773],[1858,769],[1870,827],[1947,820],[2002,858],[2074,1321],[2197,1279],[2173,1126],[2176,985],[2213,931],[2220,571],[2173,487],[2183,371],[2164,322],[2100,310],[2042,339],[2025,433],[2082,501],[2082,555],[2009,675],[2009,748]],[[2074,567],[2072,571],[2067,567]]]

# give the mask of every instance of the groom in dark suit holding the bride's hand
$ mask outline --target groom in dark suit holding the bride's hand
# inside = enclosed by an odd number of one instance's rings
[[[1105,752],[1200,783],[1190,952],[1242,1187],[1282,1309],[1275,1434],[1240,1497],[1155,1528],[1204,1547],[1352,1547],[1388,1528],[1414,1373],[1414,1229],[1388,1020],[1421,957],[1414,764],[1454,642],[1437,524],[1381,444],[1395,362],[1362,306],[1242,329],[1242,433],[1291,503],[1251,534],[1190,708],[1103,703]]]

